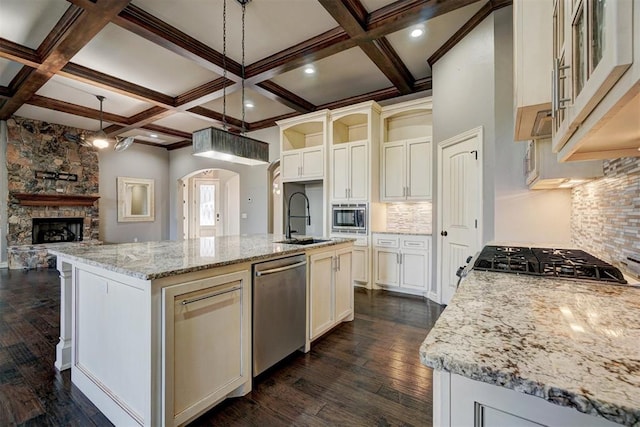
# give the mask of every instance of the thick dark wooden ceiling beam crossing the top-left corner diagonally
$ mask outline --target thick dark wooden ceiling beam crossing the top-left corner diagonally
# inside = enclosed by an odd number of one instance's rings
[[[45,85],[69,60],[98,34],[129,3],[129,0],[98,0],[90,10],[76,13],[71,5],[60,19],[62,34],[55,34],[55,42],[46,39],[48,55],[41,64],[17,88],[14,95],[0,108],[0,120],[6,120],[42,86]]]

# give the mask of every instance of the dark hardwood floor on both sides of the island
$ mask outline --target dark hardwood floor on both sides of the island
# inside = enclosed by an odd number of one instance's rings
[[[0,269],[0,426],[110,426],[53,367],[59,334],[55,270]],[[431,369],[418,347],[443,307],[357,289],[356,315],[192,426],[430,426]]]

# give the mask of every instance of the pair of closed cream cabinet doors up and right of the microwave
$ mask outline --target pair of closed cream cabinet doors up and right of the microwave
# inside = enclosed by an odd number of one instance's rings
[[[381,200],[430,200],[431,152],[430,137],[384,144]]]

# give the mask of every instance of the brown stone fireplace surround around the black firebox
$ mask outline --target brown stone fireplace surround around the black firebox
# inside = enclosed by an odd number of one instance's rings
[[[31,245],[33,218],[84,218],[83,240],[97,240],[98,202],[93,206],[23,206],[14,193],[98,195],[98,154],[81,146],[80,129],[14,116],[7,120],[8,246]],[[46,180],[35,171],[77,174],[76,182]]]

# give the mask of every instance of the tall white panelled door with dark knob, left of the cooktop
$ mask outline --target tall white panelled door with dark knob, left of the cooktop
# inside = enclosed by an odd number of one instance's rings
[[[440,302],[456,291],[456,270],[480,250],[482,224],[482,129],[476,128],[438,144],[440,163],[439,233]]]

